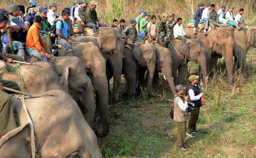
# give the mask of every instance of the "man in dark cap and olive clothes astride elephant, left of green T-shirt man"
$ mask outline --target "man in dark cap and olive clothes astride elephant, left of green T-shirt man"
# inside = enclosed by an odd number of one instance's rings
[[[135,28],[136,21],[134,19],[130,20],[130,25],[128,25],[124,31],[122,31],[122,38],[126,39],[126,43],[134,49],[133,41],[139,41],[140,43],[144,43],[143,40],[138,39],[138,34]]]

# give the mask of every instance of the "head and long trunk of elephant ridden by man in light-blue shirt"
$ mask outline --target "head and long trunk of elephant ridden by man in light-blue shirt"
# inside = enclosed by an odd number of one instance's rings
[[[102,56],[100,48],[93,42],[78,44],[75,47],[75,56],[82,60],[86,72],[92,80],[93,88],[96,91],[96,109],[100,113],[103,125],[103,133],[97,134],[99,137],[105,137],[109,133],[106,59]]]

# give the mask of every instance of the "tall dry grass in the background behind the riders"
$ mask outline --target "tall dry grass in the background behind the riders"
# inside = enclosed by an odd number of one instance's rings
[[[59,5],[58,12],[61,12],[61,9],[64,7],[72,5],[71,0],[36,0],[38,6],[41,4],[49,4],[49,1],[57,2]],[[176,12],[177,17],[182,17],[184,20],[189,20],[192,18],[194,10],[197,9],[197,4],[202,2],[198,0],[98,0],[100,3],[97,9],[98,17],[102,22],[108,23],[110,25],[111,21],[116,19],[135,19],[139,15],[140,9],[145,9],[150,14],[163,15],[164,13],[169,14],[171,12]],[[216,0],[216,1],[203,1],[206,4],[208,2],[213,2],[216,6],[216,9],[219,9],[221,4],[228,6],[233,4],[235,9],[235,14],[237,14],[239,8],[243,7],[245,9],[244,17],[247,23],[255,24],[256,23],[256,1],[255,0],[241,0],[241,1],[232,1],[232,0]],[[29,0],[1,0],[0,6],[7,8],[10,4],[23,4],[28,6]],[[192,12],[193,10],[193,12]]]

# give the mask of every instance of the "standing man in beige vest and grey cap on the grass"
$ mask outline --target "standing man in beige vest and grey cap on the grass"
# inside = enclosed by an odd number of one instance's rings
[[[177,122],[177,147],[181,151],[187,151],[185,146],[185,136],[189,112],[187,111],[189,96],[184,97],[186,87],[177,85],[175,87],[177,94],[174,96],[174,115],[173,120]]]

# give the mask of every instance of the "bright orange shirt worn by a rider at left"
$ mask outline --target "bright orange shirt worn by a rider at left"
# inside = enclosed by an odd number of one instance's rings
[[[45,41],[40,36],[40,26],[38,23],[33,23],[29,28],[27,38],[26,38],[26,49],[38,49],[42,54],[43,49],[46,52],[50,52],[48,46],[45,44]]]

